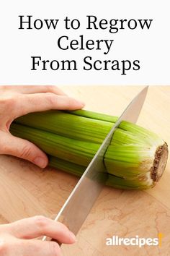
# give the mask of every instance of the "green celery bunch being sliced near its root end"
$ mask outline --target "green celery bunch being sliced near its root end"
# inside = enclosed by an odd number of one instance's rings
[[[84,110],[45,111],[19,117],[10,132],[47,153],[50,166],[81,176],[116,120]],[[104,155],[107,185],[153,187],[164,172],[167,156],[166,142],[158,135],[122,121]]]

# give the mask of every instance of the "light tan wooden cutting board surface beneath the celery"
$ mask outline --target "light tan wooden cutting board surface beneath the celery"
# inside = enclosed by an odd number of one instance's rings
[[[86,102],[86,109],[119,116],[142,87],[89,86],[63,90]],[[170,145],[170,87],[150,87],[138,124]],[[0,155],[0,220],[34,215],[54,218],[78,179],[52,168],[41,170],[12,156]],[[161,246],[107,246],[106,238],[157,237]],[[73,245],[64,256],[170,255],[170,161],[153,189],[122,191],[104,187]]]

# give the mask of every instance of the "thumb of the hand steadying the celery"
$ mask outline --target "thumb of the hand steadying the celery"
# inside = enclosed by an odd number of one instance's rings
[[[3,154],[14,155],[35,163],[40,168],[48,165],[48,157],[32,142],[7,134],[4,138]]]

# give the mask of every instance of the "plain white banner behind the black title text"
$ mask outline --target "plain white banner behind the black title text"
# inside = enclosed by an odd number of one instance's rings
[[[36,19],[59,19],[56,30],[18,30],[18,15]],[[98,19],[153,19],[150,30],[86,30],[86,15]],[[79,30],[65,30],[68,16],[81,22]],[[1,1],[0,85],[169,85],[169,1]],[[61,35],[79,40],[114,39],[109,54],[103,51],[62,51]],[[76,59],[79,71],[31,71],[30,56],[42,59]],[[115,71],[84,71],[84,56],[93,59],[139,59],[140,70],[121,75]]]

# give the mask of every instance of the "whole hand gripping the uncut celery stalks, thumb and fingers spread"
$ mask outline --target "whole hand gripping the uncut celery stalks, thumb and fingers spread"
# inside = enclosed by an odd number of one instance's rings
[[[30,112],[83,106],[55,86],[0,86],[0,154],[15,155],[44,168],[48,164],[47,155],[32,142],[12,136],[10,124]]]

